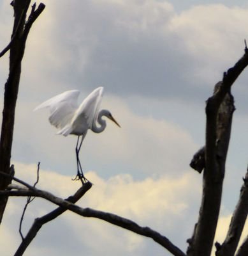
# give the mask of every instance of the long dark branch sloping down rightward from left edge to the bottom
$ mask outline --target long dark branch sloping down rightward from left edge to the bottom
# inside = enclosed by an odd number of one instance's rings
[[[87,182],[89,183],[89,182]],[[84,185],[85,186],[85,185]],[[83,187],[84,187],[83,186]],[[156,243],[160,244],[164,248],[166,248],[169,252],[171,252],[175,256],[185,256],[185,253],[182,252],[177,246],[175,246],[171,241],[165,237],[156,232],[155,230],[152,230],[149,227],[140,227],[140,225],[136,224],[134,221],[128,220],[126,218],[122,218],[120,216],[117,216],[116,214],[112,214],[109,212],[103,212],[103,211],[96,211],[91,208],[81,208],[78,205],[72,204],[71,202],[68,202],[68,200],[63,200],[62,198],[59,198],[57,196],[52,195],[52,193],[49,193],[47,191],[43,191],[41,189],[21,189],[21,190],[5,190],[0,191],[0,196],[36,196],[41,197],[49,200],[50,202],[59,205],[66,211],[65,209],[68,209],[69,211],[73,211],[80,216],[84,217],[92,217],[92,218],[98,218],[100,220],[107,221],[108,223],[112,223],[113,225],[116,225],[118,227],[125,228],[127,230],[130,230],[132,232],[135,232],[136,234],[140,234],[142,236],[150,237]],[[39,225],[36,226],[38,230],[40,229]],[[36,234],[38,230],[34,230],[33,234]],[[16,255],[22,255],[22,254],[16,254]]]

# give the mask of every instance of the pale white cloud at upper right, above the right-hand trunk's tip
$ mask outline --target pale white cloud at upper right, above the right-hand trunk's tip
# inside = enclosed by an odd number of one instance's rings
[[[242,56],[247,13],[247,8],[205,4],[174,15],[169,25],[171,33],[179,37],[194,61],[189,77],[209,81],[210,86],[222,79],[222,72]]]

